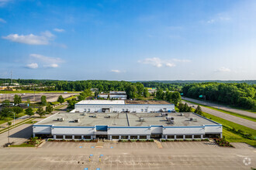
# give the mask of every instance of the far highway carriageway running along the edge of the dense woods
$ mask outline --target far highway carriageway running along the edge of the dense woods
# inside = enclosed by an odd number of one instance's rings
[[[221,105],[221,104],[213,104],[211,102],[202,101],[202,100],[195,100],[195,99],[188,98],[188,97],[182,97],[182,99],[189,100],[189,101],[195,102],[197,104],[204,104],[204,105],[207,105],[209,107],[215,107],[217,109],[227,110],[227,111],[231,111],[231,112],[234,112],[234,113],[237,113],[237,114],[243,114],[243,115],[248,116],[248,117],[256,118],[256,114],[254,114],[252,112],[249,112],[249,111],[234,109],[234,108],[227,107],[227,106],[224,106],[224,105]]]

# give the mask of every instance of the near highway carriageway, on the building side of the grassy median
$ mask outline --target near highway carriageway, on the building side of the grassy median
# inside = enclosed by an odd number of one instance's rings
[[[191,104],[191,103],[185,102],[185,101],[182,101],[182,102],[187,103],[189,105],[189,107],[192,107],[192,106],[197,107],[196,104]],[[202,106],[200,106],[200,107],[202,108],[203,112],[206,112],[208,114],[213,114],[216,117],[226,119],[227,121],[233,121],[236,124],[240,124],[240,125],[246,126],[247,128],[252,128],[252,129],[256,130],[256,123],[254,121],[249,121],[247,119],[236,117],[236,116],[233,116],[233,115],[230,115],[230,114],[225,114],[221,111],[209,109],[207,107],[202,107]]]

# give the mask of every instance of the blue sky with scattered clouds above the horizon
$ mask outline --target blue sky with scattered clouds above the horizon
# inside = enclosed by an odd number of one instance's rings
[[[0,0],[0,78],[256,80],[254,0]]]

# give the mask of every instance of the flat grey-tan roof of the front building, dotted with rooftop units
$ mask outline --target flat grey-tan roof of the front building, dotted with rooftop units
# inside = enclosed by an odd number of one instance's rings
[[[97,117],[93,117],[97,115]],[[108,117],[110,116],[110,118]],[[64,121],[57,121],[57,118],[64,118]],[[204,117],[200,117],[193,113],[184,113],[181,116],[180,113],[170,113],[168,117],[174,117],[175,124],[169,124],[166,117],[161,117],[161,113],[58,113],[51,117],[47,117],[43,121],[36,123],[36,125],[53,125],[54,126],[78,126],[78,127],[94,127],[95,125],[109,125],[109,126],[121,126],[121,127],[140,127],[150,125],[162,125],[162,126],[202,126],[206,124],[217,124],[214,121],[210,121]],[[195,117],[196,121],[190,121],[190,118]],[[144,118],[144,121],[140,121],[140,118]],[[78,123],[74,123],[75,119],[79,119]]]

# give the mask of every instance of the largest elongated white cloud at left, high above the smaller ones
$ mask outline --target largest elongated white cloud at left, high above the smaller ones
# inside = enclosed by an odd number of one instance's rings
[[[50,40],[54,38],[54,35],[49,32],[42,32],[40,36],[36,36],[33,34],[29,35],[18,35],[18,34],[10,34],[9,36],[2,36],[3,39],[8,39],[12,42],[26,43],[30,45],[47,45],[50,43]]]

